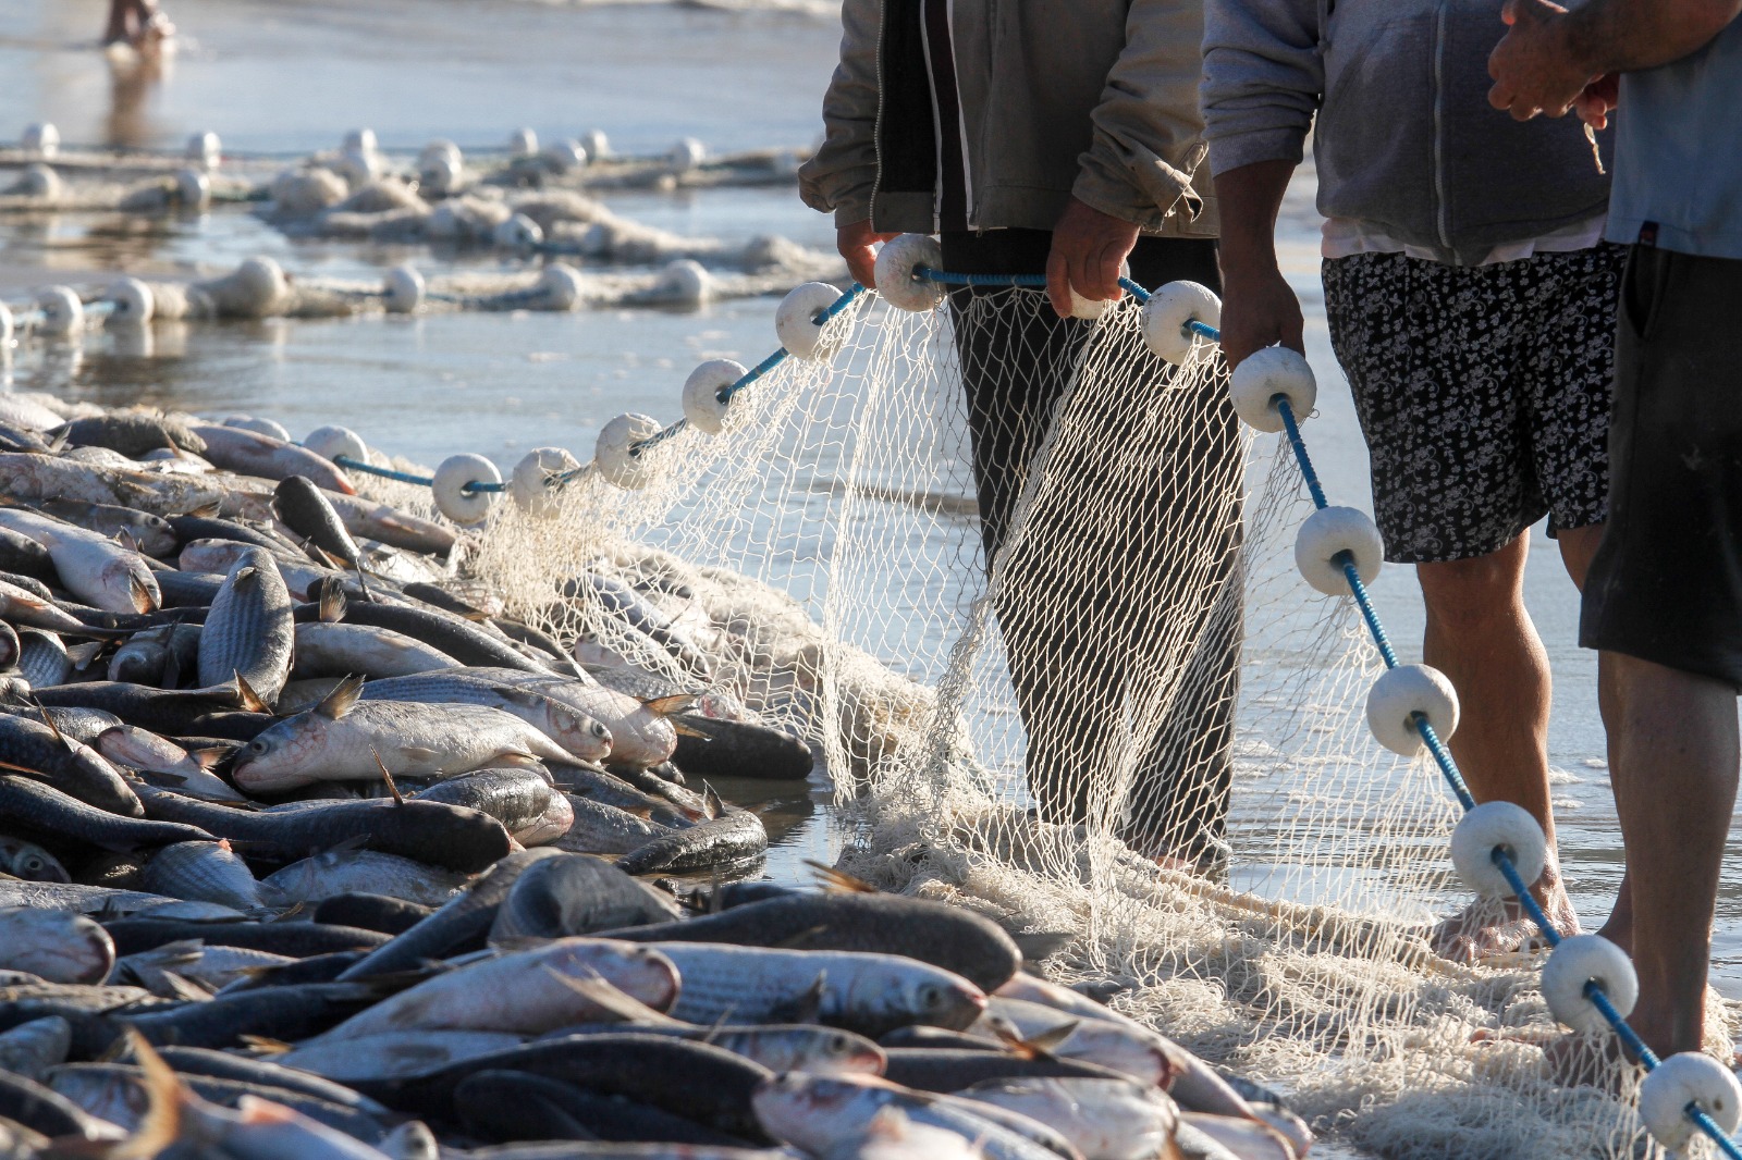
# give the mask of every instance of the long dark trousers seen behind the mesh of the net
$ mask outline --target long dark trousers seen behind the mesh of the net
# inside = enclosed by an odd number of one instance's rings
[[[1036,273],[1050,242],[1040,230],[944,233],[944,265]],[[1151,289],[1219,289],[1211,240],[1143,239],[1131,273]],[[1056,416],[1097,329],[1016,294],[965,287],[949,305],[1030,791],[1047,820],[1211,860],[1225,850],[1242,611],[1226,378],[1176,381],[1141,338],[1106,333]],[[1047,479],[1012,528],[1054,418]]]

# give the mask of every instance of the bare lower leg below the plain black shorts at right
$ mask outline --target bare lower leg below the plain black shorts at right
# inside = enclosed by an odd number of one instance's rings
[[[1698,1050],[1718,874],[1737,796],[1737,691],[1637,657],[1608,660],[1620,726],[1611,782],[1639,972],[1629,1022],[1655,1052]]]

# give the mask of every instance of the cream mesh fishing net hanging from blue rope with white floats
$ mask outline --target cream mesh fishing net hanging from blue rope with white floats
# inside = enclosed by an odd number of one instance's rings
[[[1648,1150],[1632,1080],[1545,1073],[1538,960],[1428,951],[1467,902],[1456,803],[1371,738],[1378,658],[1354,603],[1298,577],[1310,500],[1287,446],[1235,422],[1212,347],[1176,369],[1132,303],[1057,322],[1030,289],[868,296],[822,347],[733,395],[721,434],[645,446],[641,486],[582,472],[502,503],[465,568],[594,655],[808,737],[845,869],[1066,935],[1049,974],[1320,1130],[1387,1157]],[[589,570],[723,660],[608,615],[571,583]]]

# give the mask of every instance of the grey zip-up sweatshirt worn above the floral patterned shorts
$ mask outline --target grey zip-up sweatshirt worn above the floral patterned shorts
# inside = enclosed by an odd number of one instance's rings
[[[1610,179],[1577,120],[1519,124],[1488,105],[1500,7],[1207,0],[1211,172],[1300,162],[1312,129],[1319,212],[1371,223],[1453,265],[1601,214]]]

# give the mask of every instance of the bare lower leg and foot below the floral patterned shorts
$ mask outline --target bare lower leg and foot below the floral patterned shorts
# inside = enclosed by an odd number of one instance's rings
[[[1583,538],[1578,547],[1583,547]],[[1524,610],[1528,554],[1526,533],[1488,556],[1420,564],[1416,575],[1427,603],[1421,655],[1458,690],[1462,719],[1449,745],[1470,792],[1477,801],[1512,801],[1542,824],[1549,838],[1549,866],[1531,894],[1556,927],[1577,930],[1578,916],[1554,857],[1554,812],[1549,806],[1550,674],[1536,625]],[[1469,961],[1514,951],[1535,934],[1510,911],[1505,916],[1491,909],[1486,916],[1477,914],[1481,911],[1442,923],[1434,932],[1435,949]]]

